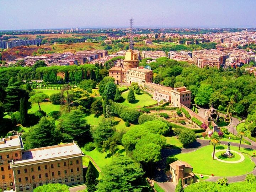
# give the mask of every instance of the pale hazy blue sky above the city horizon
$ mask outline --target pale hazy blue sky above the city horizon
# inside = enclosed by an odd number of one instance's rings
[[[256,0],[0,0],[0,30],[256,27]]]

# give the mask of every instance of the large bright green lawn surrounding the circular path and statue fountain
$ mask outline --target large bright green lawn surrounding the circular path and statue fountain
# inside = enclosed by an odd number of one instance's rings
[[[226,149],[227,146],[219,145],[218,149]],[[239,151],[238,147],[232,146],[231,150]],[[244,150],[244,149],[243,149]],[[245,160],[240,163],[229,164],[212,159],[213,146],[207,145],[191,153],[183,153],[174,155],[179,160],[186,161],[193,167],[193,172],[203,175],[214,176],[237,176],[247,174],[255,167],[254,162],[249,156],[245,156]],[[242,150],[240,151],[242,152]]]

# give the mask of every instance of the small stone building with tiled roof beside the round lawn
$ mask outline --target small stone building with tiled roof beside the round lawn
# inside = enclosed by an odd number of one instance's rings
[[[170,164],[170,177],[175,185],[181,178],[182,185],[189,185],[194,179],[193,167],[185,161],[174,161]]]

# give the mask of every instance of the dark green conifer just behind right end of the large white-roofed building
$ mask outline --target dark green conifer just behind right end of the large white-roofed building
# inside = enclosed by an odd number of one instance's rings
[[[73,110],[61,117],[59,127],[64,133],[65,142],[77,141],[85,144],[90,140],[90,125],[84,119],[84,113]]]

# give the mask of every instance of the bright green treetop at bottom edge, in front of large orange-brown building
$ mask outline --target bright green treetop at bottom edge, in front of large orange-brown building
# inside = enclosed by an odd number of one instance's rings
[[[48,185],[42,185],[35,189],[34,192],[69,192],[69,187],[67,185],[61,185],[59,183],[49,183]]]

